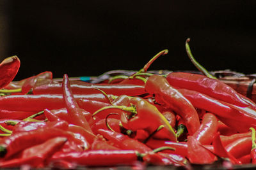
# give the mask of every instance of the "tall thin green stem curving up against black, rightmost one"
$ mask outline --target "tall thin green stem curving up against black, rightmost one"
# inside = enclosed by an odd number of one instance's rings
[[[190,38],[186,39],[186,52],[188,53],[188,57],[191,60],[191,62],[196,66],[196,68],[201,71],[205,76],[213,79],[217,79],[215,76],[212,76],[207,69],[205,69],[199,62],[196,61],[195,57],[193,57],[188,42],[190,41]]]

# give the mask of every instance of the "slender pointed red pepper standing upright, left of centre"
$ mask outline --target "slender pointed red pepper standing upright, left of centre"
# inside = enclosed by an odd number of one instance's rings
[[[86,129],[87,131],[92,132],[92,129],[88,124],[86,118],[84,118],[84,115],[81,113],[83,109],[79,108],[76,102],[76,99],[72,94],[72,91],[70,89],[70,82],[68,80],[67,74],[63,76],[62,89],[63,89],[63,98],[67,106],[68,117],[70,117],[70,120],[68,120],[68,123],[79,125],[84,129]]]

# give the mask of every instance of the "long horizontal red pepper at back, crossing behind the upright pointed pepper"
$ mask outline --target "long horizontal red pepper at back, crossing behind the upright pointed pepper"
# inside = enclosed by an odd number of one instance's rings
[[[145,94],[145,89],[142,85],[116,85],[116,84],[91,84],[84,82],[70,82],[72,92],[74,94],[95,94],[99,90],[103,90],[106,94],[113,94],[120,96],[125,94],[127,96],[139,96]],[[95,89],[97,88],[97,89]],[[33,94],[61,94],[61,83],[52,83],[48,85],[41,85],[33,88]]]

